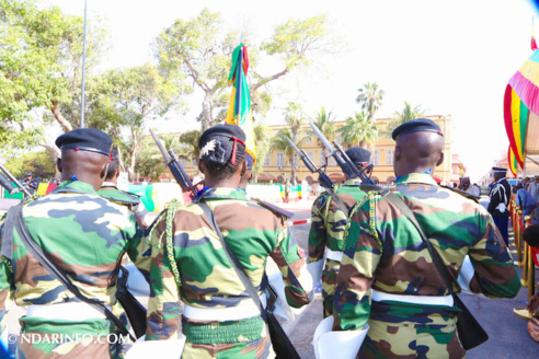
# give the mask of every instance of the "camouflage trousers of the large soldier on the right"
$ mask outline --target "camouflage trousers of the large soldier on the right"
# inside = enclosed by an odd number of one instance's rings
[[[466,357],[457,334],[456,319],[388,323],[369,320],[370,329],[359,349],[358,358],[460,359]]]

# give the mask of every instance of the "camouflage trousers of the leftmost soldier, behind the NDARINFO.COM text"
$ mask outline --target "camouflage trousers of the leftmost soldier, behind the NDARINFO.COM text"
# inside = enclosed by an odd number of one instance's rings
[[[106,320],[81,323],[20,319],[22,331],[19,337],[16,358],[123,358],[125,351],[119,334]]]

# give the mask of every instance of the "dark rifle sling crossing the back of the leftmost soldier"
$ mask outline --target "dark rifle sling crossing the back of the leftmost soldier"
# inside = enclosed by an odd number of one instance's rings
[[[32,235],[28,232],[28,229],[26,228],[26,224],[24,223],[23,215],[22,215],[22,209],[23,205],[21,204],[16,206],[16,213],[15,213],[15,228],[18,232],[21,235],[21,241],[23,242],[24,246],[26,250],[39,262],[39,264],[45,267],[50,274],[66,287],[71,293],[74,294],[74,297],[80,300],[81,302],[88,303],[89,305],[94,306],[98,309],[100,312],[103,312],[105,314],[106,319],[108,319],[111,322],[114,323],[114,325],[119,329],[122,335],[124,336],[129,336],[133,341],[135,341],[135,338],[129,334],[129,331],[127,331],[126,326],[124,323],[119,321],[119,319],[114,315],[103,303],[100,303],[96,300],[90,299],[82,294],[77,288],[71,280],[68,278],[66,273],[57,267],[43,252],[42,247],[35,243],[35,241],[32,239]]]

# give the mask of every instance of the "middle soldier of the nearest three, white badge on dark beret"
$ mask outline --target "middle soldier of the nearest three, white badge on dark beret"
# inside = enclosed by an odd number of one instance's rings
[[[245,171],[244,139],[234,125],[218,125],[200,136],[198,169],[207,187],[199,193],[199,200],[213,210],[225,240],[257,292],[262,293],[264,268],[271,256],[283,274],[288,303],[302,306],[309,302],[312,281],[284,218],[249,201],[238,189]],[[150,240],[147,340],[177,337],[181,300],[185,303],[184,359],[275,357],[259,308],[197,204],[175,212],[169,208],[158,219]]]

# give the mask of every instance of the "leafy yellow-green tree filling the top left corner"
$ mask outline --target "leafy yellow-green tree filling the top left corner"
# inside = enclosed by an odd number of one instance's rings
[[[103,53],[105,35],[99,21],[90,24],[88,69]],[[0,2],[1,132],[35,143],[41,131],[28,124],[34,119],[31,111],[37,108],[49,111],[66,131],[73,128],[60,105],[80,88],[82,37],[82,18],[66,15],[57,7],[37,9],[33,0]]]

